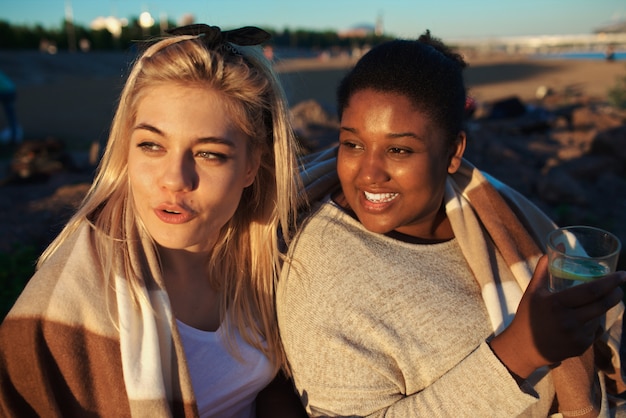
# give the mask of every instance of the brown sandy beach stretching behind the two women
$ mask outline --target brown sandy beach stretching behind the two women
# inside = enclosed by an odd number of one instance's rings
[[[18,87],[17,111],[25,138],[56,137],[72,145],[105,141],[126,69],[120,52],[0,51],[0,69]],[[605,97],[626,62],[540,60],[520,56],[475,57],[466,70],[470,94],[479,102],[518,96],[532,100],[540,86]],[[334,112],[335,88],[353,64],[348,58],[294,59],[276,64],[291,106],[316,100]],[[0,116],[0,128],[6,126]]]

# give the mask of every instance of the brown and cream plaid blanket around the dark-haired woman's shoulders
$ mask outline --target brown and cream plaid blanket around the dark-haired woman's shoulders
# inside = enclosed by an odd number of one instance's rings
[[[303,158],[301,175],[309,201],[320,200],[339,186],[336,152],[331,148]],[[545,251],[545,237],[556,225],[520,193],[467,160],[448,177],[445,199],[452,229],[481,286],[497,335],[513,319]],[[494,271],[494,249],[514,282],[503,282]],[[607,313],[605,332],[593,348],[550,370],[563,416],[609,416],[616,408],[620,400],[611,394],[626,390],[619,354],[623,313],[620,303]]]

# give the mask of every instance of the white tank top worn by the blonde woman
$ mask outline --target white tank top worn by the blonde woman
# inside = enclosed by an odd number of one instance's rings
[[[239,361],[226,348],[222,328],[208,332],[176,323],[200,417],[254,418],[256,395],[273,377],[267,357],[236,332]]]

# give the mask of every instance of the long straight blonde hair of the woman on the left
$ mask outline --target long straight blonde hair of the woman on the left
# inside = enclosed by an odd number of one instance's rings
[[[229,46],[236,50],[208,48],[201,37],[184,35],[147,47],[122,90],[94,182],[76,214],[42,254],[38,267],[81,224],[89,223],[96,231],[97,254],[107,280],[122,274],[135,300],[141,298],[148,269],[141,240],[136,238],[147,232],[135,214],[128,184],[130,130],[137,104],[146,88],[157,83],[217,91],[250,138],[250,149],[261,153],[261,166],[252,186],[244,190],[235,215],[222,228],[208,260],[207,276],[223,295],[222,319],[263,351],[278,370],[285,358],[276,325],[274,288],[281,263],[279,237],[289,239],[298,203],[299,150],[285,95],[271,64],[259,47]],[[154,243],[152,250],[156,253]]]

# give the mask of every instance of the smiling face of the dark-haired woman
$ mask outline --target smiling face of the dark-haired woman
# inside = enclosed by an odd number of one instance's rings
[[[344,109],[337,171],[347,204],[370,231],[438,236],[450,147],[401,94],[362,90]]]

